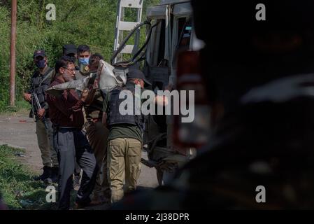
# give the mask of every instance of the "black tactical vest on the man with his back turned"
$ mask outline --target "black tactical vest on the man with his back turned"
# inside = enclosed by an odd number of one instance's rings
[[[120,104],[125,99],[119,99],[119,94],[122,90],[129,90],[133,95],[133,113],[122,115],[119,111]],[[117,124],[129,124],[137,125],[141,130],[143,130],[144,116],[135,115],[135,87],[134,85],[129,85],[126,87],[117,87],[115,90],[110,92],[110,102],[109,102],[109,113],[108,113],[108,125],[117,125]],[[141,111],[141,110],[140,110]]]

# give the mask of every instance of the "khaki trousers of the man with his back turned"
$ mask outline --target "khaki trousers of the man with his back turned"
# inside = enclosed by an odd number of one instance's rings
[[[123,182],[127,191],[136,190],[141,172],[142,144],[137,139],[117,138],[108,143],[108,177],[111,203],[122,199]]]

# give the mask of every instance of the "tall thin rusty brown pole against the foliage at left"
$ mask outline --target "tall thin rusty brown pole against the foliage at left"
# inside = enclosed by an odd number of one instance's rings
[[[15,43],[17,0],[11,3],[11,43],[10,43],[10,106],[15,106]]]

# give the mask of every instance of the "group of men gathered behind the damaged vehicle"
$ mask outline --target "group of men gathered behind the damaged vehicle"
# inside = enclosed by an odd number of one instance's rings
[[[54,85],[96,72],[101,59],[99,54],[92,55],[87,45],[64,45],[62,58],[51,69],[45,51],[34,52],[38,69],[24,99],[32,104],[30,115],[36,120],[43,159],[43,174],[36,180],[58,183],[59,209],[70,208],[73,179],[77,180],[80,173],[77,208],[121,200],[124,179],[127,190],[136,189],[141,170],[143,116],[134,113],[126,119],[120,115],[118,96],[122,90],[134,93],[135,85],[142,89],[150,85],[144,74],[130,70],[127,85],[107,93],[101,92],[97,80],[83,92],[63,90],[58,96],[45,92]],[[34,105],[35,94],[39,109]]]

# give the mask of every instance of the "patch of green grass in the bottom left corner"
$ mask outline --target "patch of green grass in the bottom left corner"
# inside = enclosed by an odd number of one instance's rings
[[[0,146],[0,190],[9,209],[56,209],[45,200],[47,187],[15,158],[21,149]],[[57,187],[56,187],[57,188]]]

